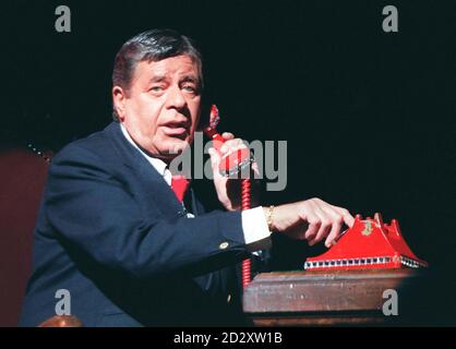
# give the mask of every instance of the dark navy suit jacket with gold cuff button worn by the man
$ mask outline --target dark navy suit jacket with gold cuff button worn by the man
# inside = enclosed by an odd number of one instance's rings
[[[204,214],[192,198],[196,217],[182,217],[116,122],[64,147],[49,169],[20,325],[56,315],[59,289],[85,326],[236,325],[227,297],[229,266],[247,254],[240,213]]]

